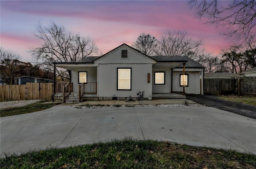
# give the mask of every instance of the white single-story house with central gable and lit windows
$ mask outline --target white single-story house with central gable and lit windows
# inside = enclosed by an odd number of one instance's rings
[[[186,56],[147,56],[127,44],[100,57],[53,64],[72,70],[72,91],[91,99],[136,98],[142,92],[151,98],[183,91],[183,85],[186,93],[204,93],[204,66],[198,62]]]

